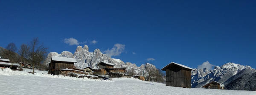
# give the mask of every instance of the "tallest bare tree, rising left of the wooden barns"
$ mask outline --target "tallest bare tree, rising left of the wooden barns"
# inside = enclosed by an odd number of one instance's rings
[[[31,60],[31,63],[33,65],[33,72],[35,73],[35,65],[40,65],[44,59],[46,58],[47,49],[44,47],[43,44],[41,44],[38,40],[38,38],[34,38],[29,45],[29,56],[28,58]]]

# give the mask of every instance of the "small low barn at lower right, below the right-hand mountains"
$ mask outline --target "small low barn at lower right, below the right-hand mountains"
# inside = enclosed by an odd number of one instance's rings
[[[218,83],[217,81],[211,81],[203,87],[206,89],[224,89],[224,84]]]

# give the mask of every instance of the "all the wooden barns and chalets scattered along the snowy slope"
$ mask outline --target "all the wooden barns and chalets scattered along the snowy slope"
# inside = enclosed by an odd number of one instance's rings
[[[64,58],[64,57],[53,57],[48,63],[49,71],[48,74],[52,75],[64,75],[72,77],[87,77],[87,78],[138,78],[145,81],[145,77],[142,75],[128,75],[125,74],[126,67],[116,67],[115,64],[108,63],[105,61],[100,61],[97,69],[92,69],[91,67],[85,67],[83,69],[76,68],[74,63],[76,63],[74,58]],[[17,70],[18,67],[31,67],[31,64],[20,63],[10,63],[9,59],[0,58],[0,67],[11,68]],[[172,87],[183,87],[191,88],[191,71],[195,70],[182,64],[171,62],[170,64],[163,67],[161,70],[166,71],[166,86]],[[206,89],[224,89],[224,85],[216,81],[210,81],[208,84],[204,85],[202,88]]]

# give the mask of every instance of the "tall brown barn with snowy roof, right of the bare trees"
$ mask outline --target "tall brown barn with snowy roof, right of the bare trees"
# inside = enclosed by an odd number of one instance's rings
[[[49,74],[59,75],[61,74],[61,69],[73,69],[76,59],[65,58],[65,57],[52,57],[49,65]]]

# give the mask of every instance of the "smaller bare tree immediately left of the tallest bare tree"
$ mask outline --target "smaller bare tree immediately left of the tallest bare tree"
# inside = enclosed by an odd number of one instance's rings
[[[24,62],[24,60],[26,60],[27,56],[29,55],[29,47],[25,44],[20,45],[18,53],[20,54],[20,62]]]

